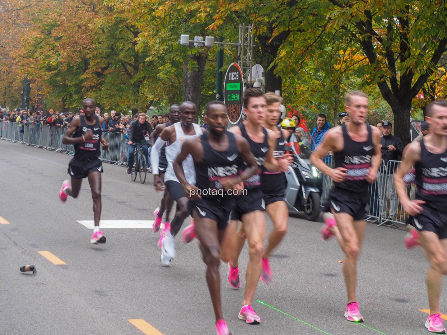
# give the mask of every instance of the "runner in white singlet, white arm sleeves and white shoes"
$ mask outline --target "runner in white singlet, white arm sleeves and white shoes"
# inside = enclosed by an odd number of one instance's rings
[[[204,129],[193,123],[197,113],[197,107],[194,102],[185,101],[180,105],[180,118],[181,122],[174,123],[163,129],[160,137],[156,140],[152,151],[154,155],[151,155],[151,163],[154,174],[154,185],[156,190],[163,190],[164,186],[161,181],[160,175],[157,173],[159,168],[159,151],[164,146],[165,142],[169,141],[169,146],[165,147],[166,159],[168,161],[168,167],[164,174],[164,184],[169,193],[171,193],[173,199],[177,201],[177,211],[171,222],[170,232],[166,231],[166,235],[162,236],[158,245],[161,248],[162,254],[160,260],[164,266],[170,266],[171,260],[175,258],[175,240],[181,228],[183,221],[188,214],[188,198],[186,197],[183,188],[181,187],[177,177],[174,174],[172,164],[174,159],[180,153],[181,147],[185,140],[188,138],[200,136],[203,134]],[[183,162],[183,168],[186,173],[186,178],[190,184],[195,183],[194,162],[192,157],[188,157]]]

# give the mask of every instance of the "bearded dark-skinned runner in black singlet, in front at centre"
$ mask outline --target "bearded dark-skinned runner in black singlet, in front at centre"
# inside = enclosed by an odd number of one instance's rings
[[[233,194],[239,197],[242,182],[257,173],[258,166],[248,142],[225,130],[228,124],[227,108],[221,101],[212,101],[207,105],[205,122],[208,131],[200,137],[186,140],[173,163],[173,169],[185,193],[193,196],[188,209],[195,221],[203,261],[207,264],[206,277],[217,334],[229,335],[231,332],[223,320],[220,302],[220,247],[235,247],[234,238],[225,234],[232,209],[236,205]],[[188,155],[194,159],[195,186],[188,183],[183,171],[182,164]],[[248,168],[239,175],[241,161],[245,161]],[[223,258],[224,262],[228,260]]]

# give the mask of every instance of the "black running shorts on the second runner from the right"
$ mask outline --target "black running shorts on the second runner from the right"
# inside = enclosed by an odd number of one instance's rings
[[[354,221],[360,221],[365,219],[366,206],[369,202],[369,193],[348,193],[332,188],[326,200],[326,207],[329,206],[335,213],[349,214],[354,218]]]

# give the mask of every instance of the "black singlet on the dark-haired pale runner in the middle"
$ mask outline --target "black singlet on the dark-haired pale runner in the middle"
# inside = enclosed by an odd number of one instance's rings
[[[254,159],[259,166],[257,174],[251,176],[249,179],[245,180],[244,188],[246,189],[254,189],[254,188],[260,188],[261,187],[261,173],[262,173],[262,163],[264,163],[264,160],[266,159],[267,151],[269,151],[269,138],[267,134],[267,130],[264,127],[262,128],[262,132],[264,133],[264,142],[257,143],[254,142],[249,134],[247,134],[247,130],[245,129],[245,126],[243,123],[241,123],[239,126],[240,133],[242,134],[242,137],[244,137],[248,142],[250,146],[250,151],[254,156]],[[243,162],[240,165],[240,173],[244,172],[247,168],[247,164]]]

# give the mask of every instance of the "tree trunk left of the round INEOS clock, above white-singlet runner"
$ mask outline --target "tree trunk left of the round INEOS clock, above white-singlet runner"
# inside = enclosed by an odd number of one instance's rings
[[[203,70],[207,56],[205,54],[190,54],[186,56],[185,80],[183,81],[183,97],[184,100],[190,100],[200,108],[200,94],[202,93]],[[197,113],[197,119],[198,119]]]

